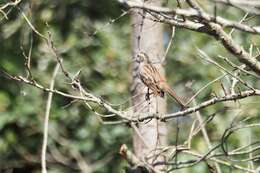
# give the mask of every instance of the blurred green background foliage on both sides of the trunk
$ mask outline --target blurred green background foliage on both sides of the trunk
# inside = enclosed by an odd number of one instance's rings
[[[8,2],[0,1],[0,4]],[[174,2],[167,4],[175,6]],[[212,4],[205,3],[209,11]],[[230,10],[231,9],[231,10]],[[120,104],[130,98],[131,83],[131,30],[132,23],[126,15],[112,24],[111,19],[117,18],[124,9],[116,1],[107,0],[28,0],[22,1],[18,8],[8,8],[8,20],[0,18],[0,67],[13,75],[26,76],[25,59],[22,48],[27,54],[32,45],[31,70],[33,77],[44,86],[49,85],[55,57],[50,53],[44,40],[32,32],[21,15],[23,11],[32,24],[42,34],[51,32],[54,45],[63,57],[67,71],[76,74],[81,70],[82,85],[92,93],[102,96],[107,101]],[[234,8],[219,6],[219,14],[229,19],[240,20],[244,13]],[[252,18],[250,24],[260,24],[259,18]],[[93,34],[97,31],[96,34]],[[228,30],[227,30],[228,31]],[[165,26],[164,44],[167,45],[171,35],[169,26]],[[233,38],[248,50],[250,44],[259,48],[259,36],[235,31]],[[176,29],[173,45],[167,56],[166,71],[170,84],[175,90],[189,97],[184,86],[191,84],[193,91],[222,75],[215,66],[205,63],[199,58],[196,47],[207,52],[213,59],[217,55],[232,57],[224,48],[209,36]],[[232,60],[235,60],[232,58]],[[237,61],[234,61],[238,63]],[[242,76],[253,86],[260,81],[250,76]],[[230,78],[221,80],[228,89]],[[73,89],[59,72],[55,87],[73,93]],[[243,90],[242,85],[237,90]],[[211,97],[211,93],[223,95],[220,82],[208,87],[197,98],[201,102]],[[42,129],[47,94],[32,86],[24,85],[0,76],[0,172],[40,172],[40,154],[42,145]],[[217,113],[214,120],[207,126],[213,144],[219,142],[224,129],[229,127],[236,117],[250,117],[250,122],[260,119],[260,100],[250,97],[238,102],[221,103],[202,111],[207,117],[216,110],[228,106],[228,111]],[[129,102],[122,107],[129,106]],[[169,101],[168,111],[174,112],[174,103]],[[103,110],[95,107],[97,111]],[[119,107],[120,108],[120,107]],[[180,141],[187,139],[191,120],[194,116],[180,121]],[[247,121],[244,122],[248,123]],[[175,120],[169,126],[169,143],[175,143]],[[48,172],[81,172],[78,163],[85,162],[85,168],[92,172],[123,172],[127,163],[119,156],[121,144],[131,147],[132,132],[127,125],[104,125],[93,112],[89,111],[80,101],[54,95],[50,115],[48,141]],[[259,141],[259,128],[241,130],[232,135],[230,148],[248,144],[251,140]],[[194,149],[207,151],[201,134],[192,143]],[[258,151],[257,151],[258,152]],[[258,152],[259,153],[259,152]],[[240,156],[239,156],[240,157]],[[242,156],[240,159],[243,158]],[[187,157],[186,157],[187,159]],[[236,158],[239,159],[239,158]],[[247,163],[239,163],[247,166]],[[259,161],[254,164],[259,166]],[[230,170],[223,166],[224,170]],[[193,168],[178,172],[207,172],[206,166],[200,164]],[[232,172],[240,172],[232,169]]]

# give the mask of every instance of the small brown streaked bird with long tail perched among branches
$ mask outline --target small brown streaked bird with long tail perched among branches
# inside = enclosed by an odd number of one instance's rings
[[[136,61],[139,62],[138,75],[141,81],[148,87],[146,98],[149,99],[149,89],[152,90],[155,96],[164,97],[164,93],[168,93],[182,108],[185,103],[182,99],[171,89],[166,78],[159,72],[159,70],[152,65],[146,53],[140,52],[137,55]],[[148,96],[148,97],[147,97]]]

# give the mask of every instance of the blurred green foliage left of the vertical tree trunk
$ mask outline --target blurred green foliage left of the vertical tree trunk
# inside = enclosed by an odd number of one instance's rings
[[[64,66],[71,74],[82,70],[81,80],[97,95],[118,103],[129,97],[130,28],[123,19],[120,24],[108,25],[109,18],[120,14],[115,2],[100,1],[27,1],[19,8],[35,28],[51,33],[55,47],[64,58]],[[31,70],[33,77],[44,86],[49,85],[55,57],[44,40],[31,31],[20,11],[13,8],[9,20],[1,20],[0,65],[15,75],[27,74],[21,46],[28,54],[32,41]],[[46,25],[47,24],[47,25]],[[100,29],[94,36],[95,30]],[[124,43],[124,44],[122,44]],[[118,51],[120,50],[120,51]],[[117,70],[121,75],[117,75]],[[124,72],[123,72],[124,71]],[[119,81],[124,81],[120,82]],[[47,95],[28,85],[0,78],[0,170],[38,172],[42,145],[43,117]],[[58,74],[55,86],[73,92],[63,74]],[[102,110],[100,110],[102,111]],[[77,172],[76,153],[86,158],[95,172],[118,172],[118,149],[130,143],[128,127],[103,125],[81,103],[54,96],[49,129],[49,172]],[[53,155],[67,158],[62,164]],[[95,166],[94,166],[95,165]]]

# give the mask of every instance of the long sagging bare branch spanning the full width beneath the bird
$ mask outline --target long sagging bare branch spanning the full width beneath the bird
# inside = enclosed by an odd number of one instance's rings
[[[28,85],[32,85],[36,88],[39,88],[45,92],[52,92],[54,94],[58,94],[64,97],[68,97],[68,98],[72,98],[72,99],[77,99],[77,100],[83,100],[83,101],[87,101],[87,102],[92,102],[92,103],[96,103],[99,106],[105,108],[108,112],[111,112],[117,116],[119,116],[120,118],[122,118],[125,123],[127,122],[141,122],[144,120],[150,120],[153,118],[159,119],[161,121],[166,121],[169,119],[173,119],[176,117],[181,117],[181,116],[186,116],[188,114],[194,113],[198,110],[204,109],[208,106],[214,105],[216,103],[221,103],[221,102],[226,102],[226,101],[236,101],[239,99],[244,99],[247,97],[252,97],[252,96],[260,96],[260,90],[259,89],[255,89],[255,90],[246,90],[240,93],[236,93],[236,94],[229,94],[229,95],[225,95],[222,97],[217,97],[215,96],[212,99],[209,99],[207,101],[204,101],[202,103],[200,103],[197,106],[188,108],[186,110],[183,111],[178,111],[175,113],[171,113],[171,114],[165,114],[165,115],[159,115],[159,114],[147,114],[147,113],[137,113],[135,115],[132,115],[133,113],[131,111],[118,111],[116,109],[114,109],[112,106],[110,106],[110,104],[106,103],[103,99],[94,96],[91,93],[88,93],[85,91],[85,96],[77,96],[77,95],[71,95],[56,89],[50,89],[50,88],[45,88],[44,86],[38,84],[36,81],[30,81],[26,78],[23,78],[21,76],[11,76],[10,74],[8,74],[7,72],[1,70],[2,73],[4,73],[6,76],[8,76],[8,78],[18,81],[18,82],[22,82]],[[73,85],[73,84],[72,84]]]

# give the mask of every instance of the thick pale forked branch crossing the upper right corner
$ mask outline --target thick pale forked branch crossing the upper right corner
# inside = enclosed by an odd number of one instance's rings
[[[248,52],[246,52],[243,48],[236,44],[222,28],[226,26],[236,28],[245,32],[260,34],[260,27],[250,27],[242,23],[230,21],[221,17],[210,16],[203,10],[178,8],[172,10],[168,8],[154,7],[135,1],[124,1],[124,4],[127,5],[129,8],[140,8],[149,11],[150,14],[154,17],[153,20],[156,20],[158,22],[214,36],[214,38],[216,40],[220,40],[222,42],[222,45],[231,54],[235,55],[240,62],[246,64],[257,74],[260,74],[260,62],[258,62],[256,58],[252,58]],[[176,20],[174,18],[175,14],[191,18],[191,20]]]

